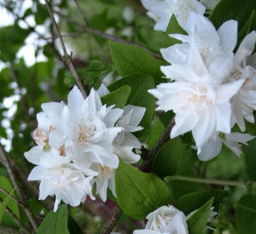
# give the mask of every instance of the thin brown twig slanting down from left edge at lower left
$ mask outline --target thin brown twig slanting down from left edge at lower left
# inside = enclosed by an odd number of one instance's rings
[[[6,156],[6,154],[3,151],[3,147],[0,145],[0,162],[3,164],[3,166],[6,168],[8,174],[9,174],[9,179],[12,181],[14,187],[16,188],[16,192],[18,197],[20,197],[20,203],[23,203],[24,205],[24,211],[27,215],[27,218],[30,220],[30,223],[32,224],[33,231],[38,230],[38,225],[36,220],[33,217],[33,214],[31,210],[28,208],[27,203],[26,203],[26,198],[23,195],[22,191],[20,190],[20,187],[18,186],[15,178],[15,174],[13,172],[13,168],[11,168],[11,165],[9,163],[9,159]]]

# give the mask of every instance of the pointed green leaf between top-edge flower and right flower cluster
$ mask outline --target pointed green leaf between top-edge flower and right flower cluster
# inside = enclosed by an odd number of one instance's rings
[[[181,41],[177,40],[176,38],[172,38],[169,36],[169,34],[174,34],[174,33],[188,35],[187,31],[183,30],[183,28],[179,26],[175,15],[172,14],[171,20],[165,32],[165,37],[164,37],[165,48],[177,43],[181,43]]]

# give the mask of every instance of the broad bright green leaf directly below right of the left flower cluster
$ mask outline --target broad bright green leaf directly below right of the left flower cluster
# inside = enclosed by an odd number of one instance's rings
[[[120,208],[132,219],[143,220],[156,208],[171,203],[171,194],[155,174],[143,173],[120,160],[115,174]]]

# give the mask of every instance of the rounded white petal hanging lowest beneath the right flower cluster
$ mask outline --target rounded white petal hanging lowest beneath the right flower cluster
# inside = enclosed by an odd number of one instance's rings
[[[204,146],[201,147],[201,153],[198,154],[198,158],[201,161],[209,161],[212,158],[217,157],[222,148],[222,140],[218,137],[216,140],[210,138],[207,140]]]

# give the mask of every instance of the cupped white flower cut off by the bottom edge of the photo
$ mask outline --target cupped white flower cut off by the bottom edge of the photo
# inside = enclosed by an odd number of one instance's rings
[[[162,206],[148,214],[145,230],[136,230],[133,234],[187,234],[186,216],[173,206]]]

